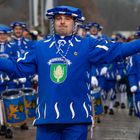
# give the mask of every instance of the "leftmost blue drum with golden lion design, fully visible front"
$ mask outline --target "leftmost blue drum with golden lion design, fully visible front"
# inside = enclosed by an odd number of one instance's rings
[[[4,111],[7,124],[18,124],[26,121],[23,92],[9,89],[2,92]]]

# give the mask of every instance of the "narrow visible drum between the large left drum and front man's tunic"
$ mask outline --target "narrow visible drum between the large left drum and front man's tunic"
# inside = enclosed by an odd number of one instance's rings
[[[34,119],[36,115],[37,93],[32,88],[22,88],[25,96],[26,115],[28,119]]]

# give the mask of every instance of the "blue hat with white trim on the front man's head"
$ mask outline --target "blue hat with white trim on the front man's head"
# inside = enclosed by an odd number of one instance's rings
[[[57,14],[65,14],[69,15],[75,18],[75,20],[83,22],[85,18],[82,15],[82,12],[75,7],[71,6],[56,6],[55,8],[52,8],[50,10],[47,10],[46,16],[48,19],[53,19],[55,15]]]

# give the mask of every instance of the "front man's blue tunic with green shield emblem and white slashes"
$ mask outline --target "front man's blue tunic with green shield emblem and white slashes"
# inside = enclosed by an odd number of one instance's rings
[[[90,37],[51,36],[36,43],[17,63],[0,58],[0,70],[19,77],[38,73],[35,125],[91,123],[91,65],[122,60],[140,50],[140,40],[104,43]]]

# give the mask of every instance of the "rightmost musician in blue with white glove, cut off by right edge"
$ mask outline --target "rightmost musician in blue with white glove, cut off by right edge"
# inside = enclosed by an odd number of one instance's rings
[[[140,32],[136,32],[136,39],[140,38]],[[137,53],[130,57],[128,65],[128,79],[130,90],[133,94],[133,104],[135,115],[140,118],[140,54]]]

